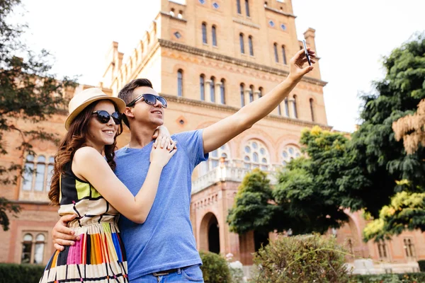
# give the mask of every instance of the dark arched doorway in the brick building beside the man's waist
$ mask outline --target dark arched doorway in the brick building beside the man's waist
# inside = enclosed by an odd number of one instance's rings
[[[205,214],[200,223],[200,249],[220,253],[220,226],[211,212]]]

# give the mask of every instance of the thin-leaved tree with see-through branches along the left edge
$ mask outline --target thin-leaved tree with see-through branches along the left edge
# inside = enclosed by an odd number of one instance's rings
[[[16,148],[23,155],[33,154],[30,142],[34,139],[56,141],[55,134],[36,125],[63,110],[64,91],[75,86],[72,79],[58,80],[50,74],[52,56],[49,52],[29,50],[21,39],[26,25],[10,23],[8,16],[20,4],[20,0],[0,0],[0,156],[8,154],[4,137],[10,132],[18,132],[21,136],[22,142]],[[22,129],[18,126],[18,119],[33,122],[34,127]],[[0,183],[15,184],[22,171],[18,164],[1,164]],[[0,211],[8,211],[10,205],[6,200],[2,201]],[[6,213],[0,214],[0,221],[7,229]]]

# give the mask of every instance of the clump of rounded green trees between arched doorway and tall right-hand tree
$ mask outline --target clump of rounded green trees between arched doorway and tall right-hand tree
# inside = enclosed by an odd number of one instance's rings
[[[346,154],[347,143],[340,133],[319,127],[304,130],[300,144],[310,157],[290,161],[278,172],[273,190],[266,174],[258,169],[246,175],[227,216],[231,231],[323,233],[341,226],[348,220],[341,204],[361,208],[360,200],[339,190],[341,170],[355,168],[353,158]]]

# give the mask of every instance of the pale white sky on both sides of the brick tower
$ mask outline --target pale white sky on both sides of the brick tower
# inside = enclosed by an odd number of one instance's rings
[[[23,0],[26,13],[15,20],[28,23],[25,38],[33,50],[55,54],[56,74],[79,74],[79,83],[96,86],[112,41],[125,54],[137,46],[156,16],[152,1]],[[298,39],[307,28],[316,30],[322,80],[328,82],[328,124],[353,132],[358,93],[370,91],[371,81],[384,76],[382,56],[424,32],[425,0],[293,0],[293,10]]]

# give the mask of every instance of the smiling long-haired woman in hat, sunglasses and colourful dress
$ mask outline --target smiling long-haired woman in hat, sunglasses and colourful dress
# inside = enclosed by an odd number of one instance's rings
[[[55,156],[49,197],[60,204],[61,216],[77,214],[69,227],[80,241],[54,253],[40,282],[128,282],[118,214],[140,224],[145,221],[176,144],[152,147],[147,178],[134,197],[113,173],[124,110],[123,100],[98,88],[82,91],[69,102],[68,132]],[[160,139],[164,143],[168,138]]]

